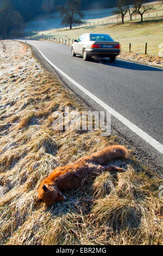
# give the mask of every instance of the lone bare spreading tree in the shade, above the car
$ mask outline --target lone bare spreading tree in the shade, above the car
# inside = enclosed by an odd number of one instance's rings
[[[72,29],[73,24],[83,24],[81,19],[84,19],[84,14],[80,8],[81,0],[67,0],[64,6],[58,6],[57,10],[60,16],[63,17],[61,25],[70,25]]]

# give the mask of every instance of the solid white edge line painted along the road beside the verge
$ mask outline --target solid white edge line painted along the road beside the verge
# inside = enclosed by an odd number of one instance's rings
[[[30,43],[31,44],[31,43]],[[33,45],[33,44],[32,44]],[[35,46],[35,45],[33,45]],[[131,123],[128,119],[123,117],[121,114],[116,112],[113,108],[109,107],[106,103],[104,103],[102,100],[98,99],[95,95],[90,93],[88,90],[86,90],[83,86],[81,86],[79,83],[74,81],[70,76],[65,74],[62,70],[60,70],[57,66],[55,66],[51,60],[49,60],[40,50],[37,46],[35,46],[37,51],[40,52],[42,57],[51,65],[54,69],[56,69],[62,76],[67,78],[68,81],[74,84],[74,86],[78,87],[82,92],[84,92],[87,96],[89,96],[92,100],[97,102],[100,106],[102,106],[106,111],[108,111],[111,115],[113,115],[116,119],[121,121],[124,125],[126,125],[131,131],[135,132],[138,136],[140,136],[144,141],[146,141],[148,144],[150,144],[153,148],[158,150],[161,154],[163,154],[163,145],[156,141],[156,139],[149,136],[146,132],[142,131],[139,127]]]

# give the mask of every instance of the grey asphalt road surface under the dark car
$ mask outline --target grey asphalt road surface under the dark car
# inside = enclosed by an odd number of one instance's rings
[[[60,70],[97,96],[124,118],[163,143],[163,70],[126,60],[109,59],[85,62],[81,57],[71,56],[71,47],[48,41],[27,41],[39,50]],[[60,75],[60,74],[59,74]],[[101,110],[89,96],[60,75],[62,80],[93,108]],[[115,126],[130,142],[162,166],[162,154],[135,135],[128,127],[112,118]]]

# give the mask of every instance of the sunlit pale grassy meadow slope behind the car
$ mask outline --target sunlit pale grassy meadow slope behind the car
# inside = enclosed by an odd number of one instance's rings
[[[78,28],[65,31],[43,31],[43,34],[47,36],[49,40],[55,38],[55,42],[65,39],[70,39],[70,44],[72,44],[72,39],[78,39],[80,35],[84,33],[106,33],[109,34],[115,41],[120,42],[121,52],[129,52],[129,44],[131,43],[131,53],[144,54],[145,45],[147,46],[147,53],[150,58],[155,55],[158,56],[160,48],[159,45],[163,41],[163,19],[153,19],[147,20],[143,23],[141,22],[126,22],[124,25],[117,23],[111,25],[100,25],[91,26],[87,28]],[[42,32],[39,33],[40,35]],[[27,39],[30,37],[27,37]],[[54,40],[53,40],[54,41]],[[150,56],[151,55],[151,56]],[[159,61],[161,61],[160,58]],[[161,62],[162,63],[162,62]]]

